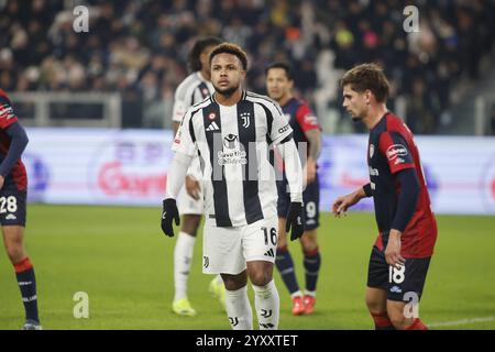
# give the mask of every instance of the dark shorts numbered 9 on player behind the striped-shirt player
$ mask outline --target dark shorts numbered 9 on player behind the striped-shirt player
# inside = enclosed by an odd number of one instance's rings
[[[287,212],[290,207],[290,195],[287,193],[287,179],[277,180],[278,201],[277,213],[278,218],[287,218]],[[320,183],[318,174],[315,182],[310,183],[302,193],[302,201],[306,209],[306,230],[315,230],[320,226]]]

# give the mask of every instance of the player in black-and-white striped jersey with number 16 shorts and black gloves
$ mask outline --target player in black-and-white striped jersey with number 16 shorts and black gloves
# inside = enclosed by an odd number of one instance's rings
[[[260,329],[277,329],[279,298],[273,280],[277,189],[268,147],[277,145],[286,163],[292,199],[287,231],[293,228],[293,240],[305,229],[299,155],[280,107],[242,89],[245,53],[224,43],[213,48],[209,62],[216,92],[187,111],[175,138],[162,229],[174,235],[172,222],[179,221],[175,198],[198,154],[206,201],[204,273],[221,274],[233,329],[253,328],[248,277],[255,293]]]

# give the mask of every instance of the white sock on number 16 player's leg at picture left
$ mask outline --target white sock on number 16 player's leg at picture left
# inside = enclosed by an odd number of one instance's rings
[[[237,290],[226,289],[226,306],[233,330],[253,330],[253,311],[248,297],[248,286]]]

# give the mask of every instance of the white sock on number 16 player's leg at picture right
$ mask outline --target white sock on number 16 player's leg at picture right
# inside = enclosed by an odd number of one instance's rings
[[[266,286],[255,286],[254,305],[256,308],[257,322],[260,330],[278,329],[278,312],[280,310],[280,299],[278,297],[277,287],[272,279]]]

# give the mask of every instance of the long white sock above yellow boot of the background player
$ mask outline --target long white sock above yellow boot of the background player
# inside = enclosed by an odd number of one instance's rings
[[[186,232],[179,232],[174,250],[174,300],[187,297],[187,279],[193,263],[193,251],[196,238]]]

